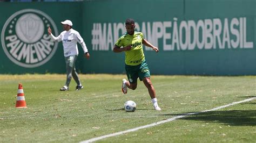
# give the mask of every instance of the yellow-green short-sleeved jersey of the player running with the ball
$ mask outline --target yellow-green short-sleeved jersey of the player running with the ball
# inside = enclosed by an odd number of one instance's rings
[[[132,48],[130,51],[125,51],[125,64],[129,66],[137,66],[145,60],[143,53],[142,40],[143,33],[134,31],[133,35],[125,33],[120,37],[116,45],[118,47],[126,47],[131,45]]]

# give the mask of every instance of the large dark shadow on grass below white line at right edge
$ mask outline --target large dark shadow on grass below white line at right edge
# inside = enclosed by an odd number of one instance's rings
[[[158,116],[180,116],[186,114],[164,114]],[[170,118],[171,118],[170,117]],[[179,120],[199,120],[213,123],[223,123],[230,126],[256,126],[256,110],[210,111],[196,115],[188,115]]]

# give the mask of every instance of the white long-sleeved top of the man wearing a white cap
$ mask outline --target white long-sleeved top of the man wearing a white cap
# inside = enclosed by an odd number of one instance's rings
[[[73,30],[72,28],[69,31],[63,31],[58,37],[55,37],[53,34],[51,34],[50,37],[54,41],[62,41],[65,57],[70,55],[78,55],[77,42],[79,42],[79,44],[82,46],[84,53],[88,52],[83,38],[79,32]]]

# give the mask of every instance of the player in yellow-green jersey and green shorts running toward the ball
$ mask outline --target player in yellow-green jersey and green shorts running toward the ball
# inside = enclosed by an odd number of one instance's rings
[[[157,104],[156,90],[150,80],[150,70],[145,60],[142,44],[151,47],[156,52],[159,50],[144,39],[142,32],[135,31],[133,19],[126,19],[125,27],[127,32],[117,40],[113,48],[113,52],[125,52],[125,70],[129,81],[126,81],[125,78],[123,79],[122,91],[127,94],[127,88],[135,90],[137,88],[137,78],[139,77],[139,80],[143,81],[149,90],[154,109],[160,111],[161,109]]]

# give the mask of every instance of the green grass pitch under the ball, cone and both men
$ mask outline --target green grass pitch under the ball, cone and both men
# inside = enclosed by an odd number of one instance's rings
[[[256,97],[256,76],[152,76],[162,111],[142,82],[123,95],[125,75],[79,75],[84,89],[59,91],[65,75],[0,75],[0,142],[79,142],[189,112]],[[18,83],[27,109],[16,109]],[[125,101],[137,104],[125,112]],[[255,142],[256,100],[98,142]]]

